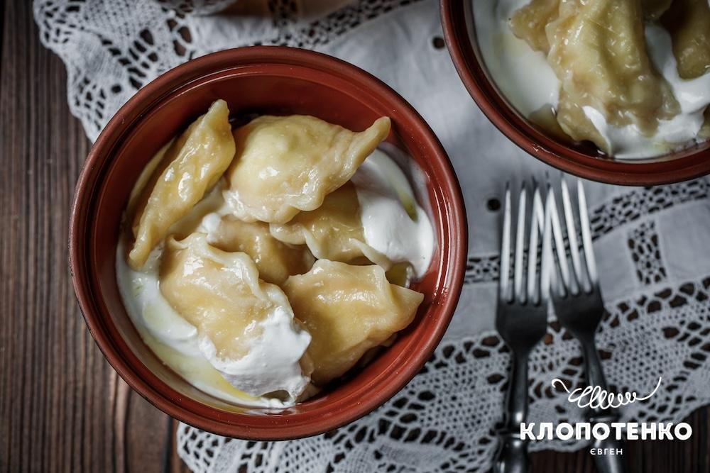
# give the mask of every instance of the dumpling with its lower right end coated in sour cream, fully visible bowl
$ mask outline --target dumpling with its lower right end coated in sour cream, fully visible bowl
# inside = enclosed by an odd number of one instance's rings
[[[283,291],[261,281],[245,253],[219,250],[203,233],[170,237],[160,292],[197,327],[202,355],[237,389],[252,396],[285,391],[294,400],[306,388],[300,360],[310,335]]]

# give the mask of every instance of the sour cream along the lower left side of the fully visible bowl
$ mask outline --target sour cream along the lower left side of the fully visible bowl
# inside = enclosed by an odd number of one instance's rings
[[[141,271],[126,264],[126,246],[121,239],[116,251],[121,299],[141,338],[165,365],[198,389],[235,404],[273,408],[295,404],[310,382],[298,365],[310,335],[294,330],[293,318],[284,308],[276,307],[262,322],[263,333],[253,340],[246,356],[239,360],[219,358],[209,338],[200,336],[195,325],[182,318],[160,293],[162,245],[151,252]],[[245,392],[277,390],[287,393],[283,400]]]

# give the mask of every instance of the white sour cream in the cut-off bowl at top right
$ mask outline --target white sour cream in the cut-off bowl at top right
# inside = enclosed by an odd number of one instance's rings
[[[508,20],[530,0],[474,1],[476,36],[488,72],[496,87],[523,116],[545,106],[557,108],[559,79],[545,55],[515,37]],[[638,126],[618,127],[606,121],[601,111],[584,106],[584,114],[599,131],[617,159],[663,155],[695,143],[710,104],[710,73],[696,79],[679,77],[670,34],[657,25],[645,25],[650,60],[666,79],[681,111],[671,120],[660,121],[656,133],[644,135]]]

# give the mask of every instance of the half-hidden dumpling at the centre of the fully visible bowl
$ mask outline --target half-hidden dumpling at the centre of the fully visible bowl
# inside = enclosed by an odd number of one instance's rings
[[[307,247],[280,242],[269,233],[268,223],[224,216],[215,227],[209,232],[209,243],[220,250],[245,252],[266,282],[282,284],[291,274],[305,273],[313,265],[313,255]]]

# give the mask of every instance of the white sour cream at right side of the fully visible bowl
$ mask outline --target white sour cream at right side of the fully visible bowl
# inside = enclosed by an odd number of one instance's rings
[[[409,262],[422,277],[432,262],[434,232],[402,169],[375,150],[351,179],[355,184],[365,243],[391,262]]]

